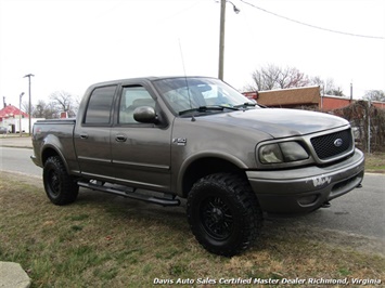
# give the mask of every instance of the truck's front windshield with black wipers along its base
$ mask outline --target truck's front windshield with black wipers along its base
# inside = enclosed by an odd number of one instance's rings
[[[156,80],[154,84],[177,115],[231,112],[256,106],[254,101],[215,78],[168,78]]]

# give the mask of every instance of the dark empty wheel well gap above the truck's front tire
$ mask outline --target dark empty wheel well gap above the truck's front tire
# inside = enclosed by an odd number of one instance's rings
[[[190,165],[183,175],[183,197],[188,196],[190,189],[198,179],[219,172],[241,173],[245,175],[243,170],[230,161],[219,158],[198,159]]]

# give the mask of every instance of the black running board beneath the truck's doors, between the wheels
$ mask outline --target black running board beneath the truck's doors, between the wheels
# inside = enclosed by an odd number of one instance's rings
[[[81,182],[81,181],[77,182],[77,184],[80,187],[101,191],[101,192],[118,195],[121,197],[132,198],[136,200],[142,200],[142,201],[157,204],[157,205],[162,205],[162,206],[179,206],[180,205],[179,199],[166,198],[166,197],[162,198],[162,197],[156,197],[156,196],[151,196],[151,195],[138,194],[134,192],[136,189],[130,189],[130,191],[117,189],[114,187],[108,187],[108,186],[103,186],[103,185],[93,184],[90,182]]]

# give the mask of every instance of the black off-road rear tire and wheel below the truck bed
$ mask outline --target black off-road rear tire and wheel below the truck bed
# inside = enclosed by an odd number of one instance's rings
[[[47,159],[42,172],[44,189],[48,198],[55,205],[72,204],[76,200],[79,186],[70,176],[62,159],[51,156]]]

